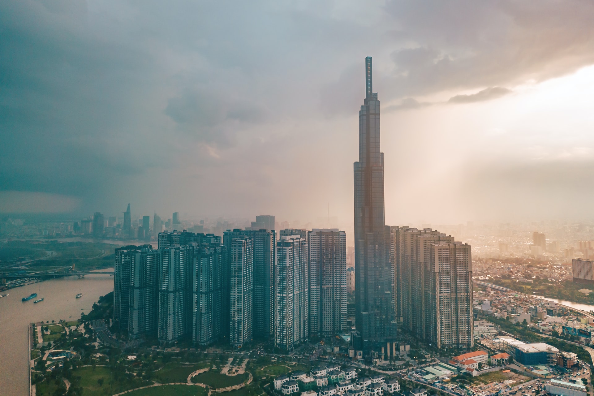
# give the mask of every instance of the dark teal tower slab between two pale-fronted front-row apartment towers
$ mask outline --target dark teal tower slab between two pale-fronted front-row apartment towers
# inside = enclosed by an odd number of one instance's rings
[[[273,222],[274,223],[274,222]],[[268,340],[274,334],[274,230],[254,231],[254,313],[252,335]]]

